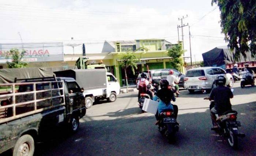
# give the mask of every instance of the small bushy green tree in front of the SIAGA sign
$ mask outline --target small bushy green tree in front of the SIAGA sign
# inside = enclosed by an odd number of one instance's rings
[[[23,68],[27,65],[26,62],[22,62],[22,58],[25,54],[25,50],[23,50],[21,53],[17,48],[12,48],[10,51],[5,53],[5,58],[7,60],[7,66],[8,68]],[[9,62],[9,59],[12,59],[11,62]]]

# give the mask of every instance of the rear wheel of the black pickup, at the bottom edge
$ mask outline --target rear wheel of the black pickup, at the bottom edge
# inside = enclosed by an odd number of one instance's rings
[[[21,136],[13,148],[13,156],[33,156],[35,150],[34,139],[26,134]]]

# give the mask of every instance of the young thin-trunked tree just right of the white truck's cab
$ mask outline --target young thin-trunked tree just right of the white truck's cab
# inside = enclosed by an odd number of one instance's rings
[[[131,67],[133,75],[135,74],[135,69],[137,69],[137,62],[139,62],[139,59],[135,56],[135,52],[143,50],[144,52],[147,52],[148,49],[146,47],[139,47],[135,51],[127,51],[127,52],[121,52],[118,54],[118,58],[120,60],[119,65],[121,65],[122,68],[124,68],[124,74],[125,74],[125,81],[127,84],[127,92],[128,92],[128,80],[127,80],[127,69]]]

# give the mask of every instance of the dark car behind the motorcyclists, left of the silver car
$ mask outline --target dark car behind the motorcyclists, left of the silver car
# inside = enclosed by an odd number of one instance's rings
[[[150,74],[150,78],[152,83],[158,83],[161,79],[166,79],[167,75],[169,75],[169,71],[173,70],[175,76],[180,77],[180,81],[179,81],[179,87],[184,87],[184,77],[185,75],[182,74],[181,72],[177,71],[176,69],[153,69],[153,70],[149,70],[149,71],[143,71],[145,73],[147,73],[147,77],[149,80],[149,74]],[[149,73],[149,74],[148,74]],[[140,74],[137,77],[136,82],[138,82],[141,79]]]

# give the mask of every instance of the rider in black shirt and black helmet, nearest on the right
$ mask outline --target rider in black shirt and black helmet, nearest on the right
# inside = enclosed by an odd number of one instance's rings
[[[214,123],[214,128],[217,128],[215,114],[222,114],[231,109],[230,99],[234,97],[229,87],[225,86],[226,78],[222,75],[215,79],[217,87],[212,88],[210,97],[204,98],[207,100],[214,100],[214,107],[211,108],[211,119]],[[210,106],[211,107],[211,106]]]

